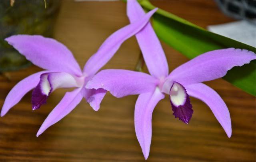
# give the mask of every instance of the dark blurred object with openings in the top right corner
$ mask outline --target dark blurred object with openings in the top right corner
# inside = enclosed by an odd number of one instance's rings
[[[245,19],[250,22],[256,18],[256,0],[216,0],[219,8],[235,19]]]

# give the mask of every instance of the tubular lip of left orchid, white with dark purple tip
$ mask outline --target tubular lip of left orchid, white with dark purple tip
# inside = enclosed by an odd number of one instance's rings
[[[78,80],[78,79],[77,79]],[[32,109],[36,110],[46,103],[50,93],[57,88],[79,87],[76,77],[64,72],[44,73],[40,76],[40,81],[32,92]]]

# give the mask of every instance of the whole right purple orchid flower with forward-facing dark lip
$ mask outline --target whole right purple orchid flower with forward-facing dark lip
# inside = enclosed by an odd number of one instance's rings
[[[130,22],[135,22],[144,11],[137,1],[127,1]],[[255,53],[241,49],[219,49],[206,52],[177,67],[168,75],[164,51],[152,26],[148,23],[136,34],[150,75],[122,69],[107,69],[97,73],[86,88],[105,89],[115,97],[137,95],[134,122],[135,131],[145,159],[148,158],[152,136],[152,112],[156,104],[170,97],[173,115],[188,123],[192,117],[189,96],[206,103],[224,128],[228,137],[232,134],[230,113],[221,97],[201,83],[226,75],[234,66],[242,66],[256,59]]]

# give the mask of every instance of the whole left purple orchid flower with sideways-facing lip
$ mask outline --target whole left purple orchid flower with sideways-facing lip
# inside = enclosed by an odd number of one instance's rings
[[[62,43],[42,36],[16,35],[6,38],[10,45],[35,65],[47,71],[40,71],[20,81],[8,93],[2,107],[4,116],[31,89],[32,109],[39,109],[46,103],[50,93],[58,88],[75,87],[67,92],[58,105],[43,122],[36,136],[39,136],[52,124],[68,115],[84,97],[90,106],[98,111],[106,90],[87,89],[86,83],[103,67],[116,53],[120,45],[128,38],[139,32],[149,21],[157,8],[145,14],[140,20],[114,32],[100,46],[98,51],[90,57],[81,71],[71,51]]]

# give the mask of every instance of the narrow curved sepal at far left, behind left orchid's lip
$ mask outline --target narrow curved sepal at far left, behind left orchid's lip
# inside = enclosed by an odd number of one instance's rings
[[[4,105],[1,110],[1,117],[3,117],[14,105],[16,105],[22,97],[28,93],[31,89],[36,87],[40,80],[40,75],[46,73],[47,71],[40,71],[38,73],[34,73],[19,83],[17,83],[12,90],[8,93]]]

